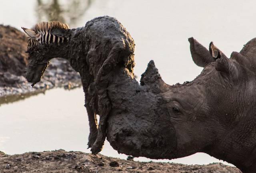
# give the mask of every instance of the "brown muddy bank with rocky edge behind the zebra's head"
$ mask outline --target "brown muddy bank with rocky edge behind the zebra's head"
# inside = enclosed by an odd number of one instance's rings
[[[26,35],[0,25],[0,104],[24,99],[53,87],[67,89],[81,85],[80,75],[66,59],[53,59],[40,83],[32,88],[25,79],[28,54]]]

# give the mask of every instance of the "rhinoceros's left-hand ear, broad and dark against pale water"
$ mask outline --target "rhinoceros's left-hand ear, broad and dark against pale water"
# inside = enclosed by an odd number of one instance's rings
[[[192,59],[199,67],[205,67],[209,63],[214,62],[214,59],[210,55],[209,51],[193,37],[188,39],[190,43],[190,53]]]

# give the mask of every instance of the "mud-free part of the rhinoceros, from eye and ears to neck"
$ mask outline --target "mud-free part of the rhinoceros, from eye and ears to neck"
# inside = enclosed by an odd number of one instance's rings
[[[246,170],[256,155],[256,39],[230,58],[212,42],[209,51],[194,38],[189,42],[193,61],[204,69],[170,88],[180,109],[178,116],[177,109],[170,113],[178,157],[204,152]]]

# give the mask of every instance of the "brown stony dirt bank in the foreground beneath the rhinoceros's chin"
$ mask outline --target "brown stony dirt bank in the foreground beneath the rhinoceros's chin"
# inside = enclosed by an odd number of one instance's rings
[[[139,162],[98,154],[73,151],[29,152],[18,155],[0,153],[0,172],[43,173],[241,173],[239,169],[213,163],[183,165],[178,163]]]

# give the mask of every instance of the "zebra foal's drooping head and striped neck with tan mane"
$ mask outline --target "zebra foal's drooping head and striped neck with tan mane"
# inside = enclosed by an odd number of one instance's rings
[[[28,35],[26,79],[34,86],[44,75],[50,59],[60,56],[59,47],[69,41],[70,29],[60,22],[40,22],[31,29],[22,29]]]

